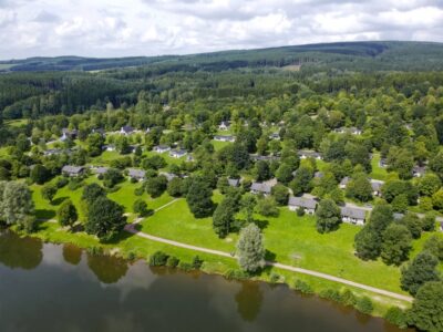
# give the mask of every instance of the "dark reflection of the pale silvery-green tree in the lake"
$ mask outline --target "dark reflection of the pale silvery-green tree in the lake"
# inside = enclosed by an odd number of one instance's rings
[[[253,322],[260,312],[264,293],[258,282],[241,282],[240,291],[235,295],[237,311],[245,321]]]

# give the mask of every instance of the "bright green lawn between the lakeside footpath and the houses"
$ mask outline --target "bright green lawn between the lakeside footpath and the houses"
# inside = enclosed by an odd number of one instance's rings
[[[338,231],[320,235],[312,216],[298,217],[282,208],[278,218],[261,220],[266,249],[279,262],[330,273],[356,282],[401,292],[400,269],[388,267],[382,261],[362,261],[354,256],[353,238],[361,229],[341,225]],[[185,199],[174,203],[142,222],[142,230],[188,245],[230,252],[235,250],[238,235],[230,234],[219,239],[213,230],[212,219],[195,219]],[[422,248],[424,239],[414,241],[413,255]]]

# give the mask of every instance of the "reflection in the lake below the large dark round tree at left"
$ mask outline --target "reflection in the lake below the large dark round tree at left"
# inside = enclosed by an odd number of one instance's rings
[[[87,266],[103,283],[114,283],[127,272],[127,262],[119,257],[87,253]]]

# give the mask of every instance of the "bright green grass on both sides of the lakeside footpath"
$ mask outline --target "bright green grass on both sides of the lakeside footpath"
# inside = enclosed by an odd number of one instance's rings
[[[99,179],[94,176],[85,179],[85,183],[93,181],[99,181]],[[117,190],[110,193],[109,197],[124,206],[130,221],[135,219],[132,204],[137,198],[144,199],[153,210],[163,207],[153,216],[145,218],[141,222],[141,230],[143,232],[208,249],[225,252],[235,251],[235,243],[238,239],[237,234],[230,234],[227,238],[219,239],[213,230],[212,218],[194,218],[185,199],[182,198],[174,201],[172,205],[167,205],[174,199],[167,194],[157,198],[152,198],[146,194],[136,196],[134,190],[140,186],[141,184],[138,183],[132,184],[130,181],[124,181],[119,185]],[[33,185],[32,190],[39,218],[54,218],[58,207],[68,197],[80,207],[80,215],[81,218],[83,218],[80,201],[81,188],[76,190],[70,190],[69,187],[61,188],[52,204],[41,198],[41,186]],[[213,199],[216,203],[219,203],[222,198],[223,196],[218,191],[214,193]],[[315,217],[298,217],[286,207],[280,208],[279,217],[264,218],[256,215],[255,219],[261,227],[265,236],[268,260],[276,260],[285,264],[315,270],[367,286],[406,294],[400,288],[400,268],[388,267],[380,260],[362,261],[354,256],[353,238],[360,230],[357,226],[341,225],[340,229],[334,232],[320,235],[316,230]],[[190,262],[193,258],[198,255],[205,261],[203,266],[205,272],[239,276],[238,264],[235,259],[195,252],[189,249],[152,241],[127,232],[122,232],[119,238],[111,243],[100,243],[93,236],[84,232],[70,232],[66,229],[62,229],[52,220],[41,222],[39,231],[33,236],[44,241],[73,243],[85,249],[100,247],[112,255],[126,258],[135,257],[144,260],[148,260],[157,250],[175,256],[184,262]],[[414,248],[411,257],[420,252],[429,236],[431,235],[423,234],[421,239],[413,242]],[[392,305],[402,308],[409,305],[406,302],[374,294],[361,289],[344,287],[332,281],[277,268],[267,268],[259,276],[253,278],[268,282],[285,282],[290,287],[293,287],[296,280],[302,280],[312,288],[315,293],[321,293],[327,289],[342,291],[344,288],[348,288],[358,297],[367,295],[372,299],[374,303],[374,315],[382,315],[385,310]]]

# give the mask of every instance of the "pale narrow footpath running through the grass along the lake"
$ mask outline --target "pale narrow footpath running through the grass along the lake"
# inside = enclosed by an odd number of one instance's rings
[[[161,210],[161,209],[174,204],[178,199],[179,198],[174,199],[173,201],[169,201],[168,204],[157,208],[155,211],[158,211],[158,210]],[[165,245],[169,245],[169,246],[174,246],[174,247],[178,247],[178,248],[189,249],[189,250],[194,250],[194,251],[216,255],[216,256],[220,256],[220,257],[227,257],[227,258],[231,258],[231,259],[236,258],[235,256],[233,256],[233,255],[230,255],[228,252],[225,252],[225,251],[219,251],[219,250],[214,250],[214,249],[208,249],[208,248],[186,245],[186,243],[183,243],[183,242],[168,240],[168,239],[165,239],[165,238],[152,236],[152,235],[148,235],[146,232],[140,231],[138,229],[136,229],[136,225],[140,224],[142,220],[143,220],[143,218],[137,218],[133,224],[126,225],[125,230],[127,232],[131,232],[131,234],[133,234],[135,236],[142,237],[142,238],[147,239],[147,240],[152,240],[152,241],[156,241],[156,242],[161,242],[161,243],[165,243]],[[373,293],[378,293],[378,294],[381,294],[381,295],[384,295],[384,297],[390,297],[390,298],[393,298],[393,299],[396,299],[396,300],[402,300],[402,301],[408,301],[408,302],[412,302],[412,300],[413,300],[411,297],[408,297],[408,295],[399,294],[399,293],[395,293],[395,292],[387,291],[387,290],[383,290],[383,289],[380,289],[380,288],[375,288],[375,287],[371,287],[371,286],[358,283],[358,282],[353,282],[353,281],[348,280],[348,279],[334,277],[334,276],[322,273],[322,272],[317,272],[317,271],[307,270],[307,269],[302,269],[302,268],[296,268],[296,267],[292,267],[292,266],[287,266],[287,264],[282,264],[282,263],[274,262],[274,261],[267,261],[266,264],[270,266],[270,267],[278,268],[278,269],[296,272],[296,273],[312,276],[312,277],[321,278],[321,279],[324,279],[324,280],[339,282],[339,283],[342,283],[342,284],[347,284],[347,286],[351,286],[351,287],[359,288],[359,289],[362,289],[362,290],[367,290],[367,291],[370,291],[370,292],[373,292]]]

